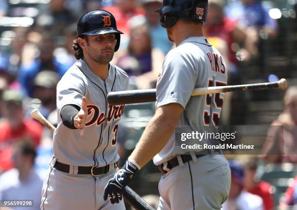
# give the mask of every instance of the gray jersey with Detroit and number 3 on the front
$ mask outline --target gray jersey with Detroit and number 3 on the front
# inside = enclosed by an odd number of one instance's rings
[[[116,149],[118,121],[124,105],[108,105],[107,93],[126,90],[128,76],[110,65],[105,80],[95,75],[81,59],[62,77],[57,85],[58,126],[53,135],[53,155],[60,162],[76,166],[105,166],[119,159]],[[79,130],[63,125],[60,111],[73,104],[81,107],[87,99],[88,117],[84,136]]]

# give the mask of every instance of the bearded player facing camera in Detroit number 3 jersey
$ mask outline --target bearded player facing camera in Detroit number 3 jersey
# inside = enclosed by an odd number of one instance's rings
[[[42,210],[123,210],[103,200],[115,174],[118,121],[124,105],[109,105],[111,91],[126,90],[127,74],[110,64],[119,48],[114,16],[90,11],[78,20],[73,48],[78,61],[57,85],[58,125],[42,190]]]

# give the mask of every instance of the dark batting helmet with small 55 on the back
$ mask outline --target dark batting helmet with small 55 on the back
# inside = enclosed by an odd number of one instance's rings
[[[205,22],[208,0],[164,0],[156,12],[160,13],[160,24],[171,28],[179,19]]]

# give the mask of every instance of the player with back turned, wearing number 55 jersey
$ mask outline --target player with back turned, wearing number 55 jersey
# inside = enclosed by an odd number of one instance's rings
[[[176,48],[165,57],[157,80],[156,113],[124,166],[109,180],[104,199],[121,200],[122,189],[153,157],[163,176],[158,210],[219,210],[231,172],[219,150],[187,152],[175,144],[175,128],[216,133],[224,94],[191,97],[194,88],[227,85],[221,54],[203,36],[207,0],[164,0],[160,23]],[[202,142],[210,143],[204,138]]]

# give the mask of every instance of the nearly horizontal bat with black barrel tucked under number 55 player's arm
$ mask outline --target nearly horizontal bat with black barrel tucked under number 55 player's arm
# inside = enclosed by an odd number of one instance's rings
[[[200,96],[200,95],[206,95],[206,94],[224,93],[224,92],[231,92],[231,91],[267,89],[267,88],[286,89],[287,80],[281,79],[277,82],[195,88],[191,96]],[[126,91],[110,92],[107,94],[107,101],[110,105],[154,102],[156,101],[156,89],[126,90]]]

